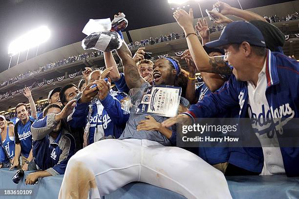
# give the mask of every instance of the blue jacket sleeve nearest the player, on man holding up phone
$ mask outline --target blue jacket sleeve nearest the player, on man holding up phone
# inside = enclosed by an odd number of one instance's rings
[[[120,103],[120,100],[124,99],[124,97],[126,97],[126,95],[121,92],[115,97],[113,97],[111,94],[108,94],[107,97],[101,101],[110,119],[114,123],[120,125],[126,124],[129,118],[129,114],[122,109]]]

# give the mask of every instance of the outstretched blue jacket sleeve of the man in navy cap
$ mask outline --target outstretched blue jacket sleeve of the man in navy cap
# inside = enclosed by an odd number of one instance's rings
[[[199,100],[197,104],[191,105],[185,114],[193,118],[214,117],[217,113],[238,105],[238,92],[235,85],[238,85],[235,76],[213,93],[210,93]]]

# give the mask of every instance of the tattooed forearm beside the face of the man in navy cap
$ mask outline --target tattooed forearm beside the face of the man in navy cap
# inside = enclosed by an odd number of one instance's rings
[[[223,57],[217,56],[217,57],[210,57],[210,66],[211,71],[205,71],[205,72],[211,72],[215,74],[220,74],[220,75],[230,75],[232,74],[232,69],[226,62],[223,61]]]

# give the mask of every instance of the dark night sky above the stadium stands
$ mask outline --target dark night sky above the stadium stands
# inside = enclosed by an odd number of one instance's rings
[[[239,7],[236,0],[223,0]],[[240,0],[243,9],[290,0]],[[201,7],[211,10],[216,0],[201,0]],[[193,7],[194,17],[200,15]],[[7,69],[8,45],[15,38],[47,25],[51,30],[48,42],[41,44],[39,54],[73,44],[85,38],[82,29],[89,19],[103,19],[124,12],[129,22],[128,30],[175,22],[167,0],[1,0],[0,4],[0,72]],[[171,31],[171,30],[170,30]],[[32,49],[29,58],[35,55]],[[20,61],[25,59],[26,52]],[[15,65],[17,56],[13,60]]]

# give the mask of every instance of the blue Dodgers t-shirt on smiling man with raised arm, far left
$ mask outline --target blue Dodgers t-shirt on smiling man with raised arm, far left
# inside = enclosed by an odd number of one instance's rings
[[[26,158],[29,156],[29,153],[32,149],[32,135],[30,128],[35,121],[37,121],[37,119],[29,116],[29,120],[25,125],[23,125],[21,120],[19,120],[15,126],[15,142],[16,144],[21,143],[21,155]],[[18,137],[16,136],[17,133]]]

